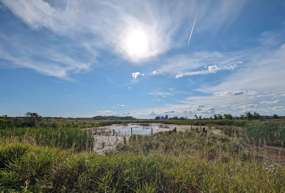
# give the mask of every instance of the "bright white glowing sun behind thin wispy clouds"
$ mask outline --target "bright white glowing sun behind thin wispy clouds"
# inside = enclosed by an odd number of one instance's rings
[[[125,51],[130,58],[142,59],[148,56],[148,35],[143,29],[130,30],[125,38]]]

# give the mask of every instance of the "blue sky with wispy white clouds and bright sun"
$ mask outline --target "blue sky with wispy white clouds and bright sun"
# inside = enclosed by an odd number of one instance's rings
[[[284,0],[0,0],[1,115],[281,116],[284,67]]]

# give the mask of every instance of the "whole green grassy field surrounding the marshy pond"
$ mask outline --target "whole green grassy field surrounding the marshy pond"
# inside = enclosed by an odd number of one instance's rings
[[[105,155],[82,128],[106,121],[70,121],[0,130],[0,192],[285,192],[284,121],[165,121],[193,128],[133,134]]]

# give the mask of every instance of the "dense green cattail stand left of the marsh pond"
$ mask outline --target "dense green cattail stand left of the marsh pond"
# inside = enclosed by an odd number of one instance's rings
[[[91,131],[74,127],[4,129],[0,130],[0,137],[77,152],[93,150],[94,146]]]

